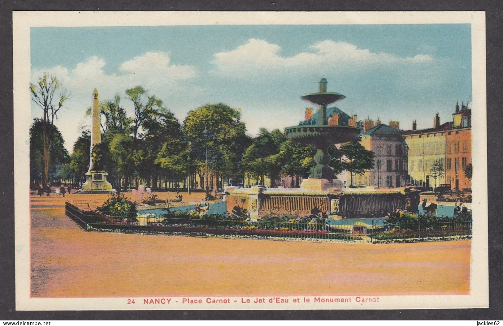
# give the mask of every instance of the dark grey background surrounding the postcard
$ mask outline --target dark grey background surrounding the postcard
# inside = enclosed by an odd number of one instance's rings
[[[302,0],[302,1],[128,1],[0,0],[0,320],[94,319],[503,319],[503,230],[500,222],[503,161],[500,108],[503,71],[503,2],[497,0]],[[487,46],[487,147],[489,209],[489,308],[414,310],[256,310],[256,311],[16,311],[14,272],[14,140],[12,92],[13,11],[485,11]],[[427,100],[427,99],[425,99]]]

